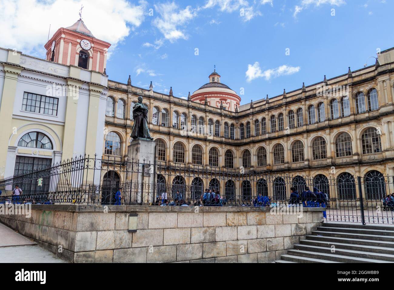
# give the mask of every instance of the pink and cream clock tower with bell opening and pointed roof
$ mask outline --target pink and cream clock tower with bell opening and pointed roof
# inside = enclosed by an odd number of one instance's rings
[[[45,44],[46,60],[82,69],[104,72],[110,43],[93,36],[84,21],[58,31]]]

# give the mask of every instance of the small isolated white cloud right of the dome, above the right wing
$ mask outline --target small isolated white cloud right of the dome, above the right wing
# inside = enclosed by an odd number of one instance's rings
[[[245,73],[246,81],[251,82],[254,79],[258,79],[260,77],[264,77],[266,80],[270,80],[272,78],[280,77],[282,75],[292,75],[294,73],[299,72],[301,68],[299,66],[293,67],[288,65],[281,65],[275,69],[267,69],[262,71],[260,68],[260,64],[255,62],[255,64],[248,65],[247,71]]]

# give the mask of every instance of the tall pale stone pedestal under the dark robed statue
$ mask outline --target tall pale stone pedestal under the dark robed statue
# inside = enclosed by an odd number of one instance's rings
[[[125,202],[154,202],[154,165],[156,142],[137,138],[127,148],[127,170]]]

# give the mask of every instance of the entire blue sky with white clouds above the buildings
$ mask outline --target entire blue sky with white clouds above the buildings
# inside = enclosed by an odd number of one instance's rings
[[[44,58],[82,19],[112,44],[110,80],[186,98],[214,70],[241,105],[375,63],[394,47],[394,0],[0,0],[0,47]],[[49,30],[50,28],[50,30]]]

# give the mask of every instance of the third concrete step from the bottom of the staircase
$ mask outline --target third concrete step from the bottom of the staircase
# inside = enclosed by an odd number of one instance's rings
[[[343,256],[340,254],[333,253],[318,253],[314,251],[302,251],[302,250],[288,250],[288,255],[293,256],[302,256],[305,258],[314,258],[320,260],[329,260],[334,262],[343,262],[343,263],[394,263],[385,260],[377,260],[377,259],[369,259],[369,258],[359,258],[355,256]]]

